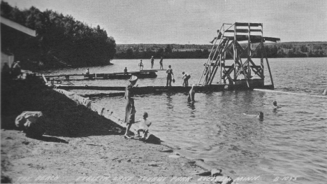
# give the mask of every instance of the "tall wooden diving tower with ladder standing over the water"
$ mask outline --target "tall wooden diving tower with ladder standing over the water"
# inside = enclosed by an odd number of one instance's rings
[[[225,29],[226,27],[227,29]],[[266,87],[274,88],[273,76],[263,45],[266,41],[277,42],[280,39],[263,37],[262,23],[224,23],[217,30],[217,37],[211,41],[211,43],[215,43],[205,63],[198,85],[211,85],[218,71],[220,73],[219,84],[226,85],[226,81],[228,81],[228,87],[263,87],[265,86],[263,58],[265,58],[271,80],[271,85],[266,85]],[[256,45],[255,48],[254,45]],[[233,64],[229,66],[225,62],[227,53],[233,57]],[[254,64],[252,60],[254,55],[260,55],[260,65]]]

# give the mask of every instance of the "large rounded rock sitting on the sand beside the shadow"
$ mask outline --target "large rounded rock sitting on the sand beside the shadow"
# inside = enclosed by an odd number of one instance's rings
[[[15,120],[16,127],[26,136],[40,137],[45,132],[46,119],[41,111],[24,111]]]

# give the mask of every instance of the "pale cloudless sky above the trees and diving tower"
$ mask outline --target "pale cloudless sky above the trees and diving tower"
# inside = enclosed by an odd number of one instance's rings
[[[20,9],[51,9],[116,43],[209,44],[222,23],[260,22],[263,36],[327,41],[326,0],[4,0]]]

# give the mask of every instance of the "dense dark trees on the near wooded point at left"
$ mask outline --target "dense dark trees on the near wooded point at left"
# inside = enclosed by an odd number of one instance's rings
[[[36,37],[19,34],[1,24],[1,51],[11,52],[24,68],[48,69],[65,66],[110,64],[116,43],[105,30],[90,27],[53,10],[32,6],[20,10],[1,1],[1,16],[36,30]]]

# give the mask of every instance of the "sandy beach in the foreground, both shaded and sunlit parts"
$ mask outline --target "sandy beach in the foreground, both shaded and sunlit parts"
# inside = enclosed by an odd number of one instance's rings
[[[114,122],[44,85],[24,80],[1,85],[2,183],[101,183],[101,177],[115,183],[119,176],[127,183],[168,177],[166,183],[204,171],[181,155],[161,152],[166,146],[124,139],[124,129]],[[42,111],[49,118],[43,138],[28,138],[15,128],[22,111]]]

